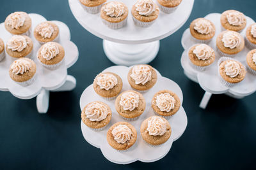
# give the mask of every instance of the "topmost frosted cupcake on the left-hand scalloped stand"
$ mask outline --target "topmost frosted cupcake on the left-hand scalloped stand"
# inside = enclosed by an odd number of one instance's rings
[[[31,32],[31,18],[26,12],[14,12],[6,17],[4,26],[11,34],[29,36]]]

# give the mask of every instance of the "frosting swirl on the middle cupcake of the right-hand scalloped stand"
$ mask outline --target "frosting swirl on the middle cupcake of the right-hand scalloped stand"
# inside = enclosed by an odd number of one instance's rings
[[[241,36],[237,32],[228,31],[223,34],[222,42],[225,47],[233,49],[240,45]]]

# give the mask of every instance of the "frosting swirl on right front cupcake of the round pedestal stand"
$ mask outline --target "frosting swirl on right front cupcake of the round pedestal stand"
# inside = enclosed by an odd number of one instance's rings
[[[136,11],[139,12],[140,15],[148,16],[156,11],[156,4],[152,0],[139,0],[135,4]]]

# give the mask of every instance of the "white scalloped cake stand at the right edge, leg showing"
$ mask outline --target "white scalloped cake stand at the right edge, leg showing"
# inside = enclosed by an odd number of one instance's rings
[[[205,18],[208,20],[211,20],[214,25],[216,26],[216,34],[212,41],[208,43],[209,46],[211,46],[214,50],[216,49],[216,37],[221,32],[221,24],[220,24],[220,13],[211,13]],[[246,17],[247,20],[247,26],[250,24],[253,24],[254,21],[250,17]],[[246,29],[244,29],[241,32],[241,35],[245,36]],[[221,84],[219,78],[218,78],[218,59],[220,59],[220,56],[218,52],[216,52],[216,59],[214,63],[205,69],[205,71],[195,71],[193,67],[189,64],[189,57],[188,57],[188,51],[189,48],[193,45],[195,45],[195,41],[191,39],[190,31],[189,29],[186,29],[184,34],[182,35],[181,40],[182,46],[185,49],[185,51],[182,53],[182,57],[180,59],[181,66],[184,69],[184,73],[186,76],[188,76],[189,79],[195,81],[196,83],[199,83],[199,85],[202,87],[202,89],[205,90],[204,97],[202,98],[202,101],[200,103],[200,108],[206,108],[207,104],[209,103],[209,100],[212,96],[212,94],[227,94],[230,97],[234,97],[237,99],[241,99],[245,96],[249,96],[250,94],[253,94],[256,91],[256,76],[253,76],[253,74],[246,73],[246,76],[243,81],[240,83],[237,83],[233,87],[226,87],[225,85]],[[215,50],[216,51],[216,50]],[[248,48],[244,48],[244,50],[236,55],[234,59],[239,60],[244,67],[246,66],[246,54],[250,50]]]

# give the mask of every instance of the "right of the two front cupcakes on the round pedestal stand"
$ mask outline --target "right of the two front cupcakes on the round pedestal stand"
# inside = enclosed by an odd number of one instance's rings
[[[140,27],[149,27],[159,15],[159,8],[152,0],[138,0],[132,6],[132,19]]]

